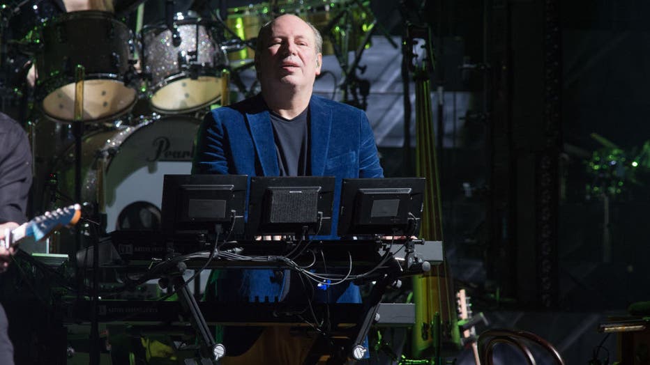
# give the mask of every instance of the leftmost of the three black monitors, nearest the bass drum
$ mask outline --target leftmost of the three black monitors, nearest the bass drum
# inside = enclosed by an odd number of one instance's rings
[[[163,233],[242,234],[247,180],[245,175],[165,175]]]

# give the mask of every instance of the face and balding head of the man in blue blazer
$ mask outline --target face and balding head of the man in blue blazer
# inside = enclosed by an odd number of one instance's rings
[[[256,66],[262,86],[311,87],[321,72],[322,54],[316,54],[316,36],[295,15],[282,15],[271,26]]]

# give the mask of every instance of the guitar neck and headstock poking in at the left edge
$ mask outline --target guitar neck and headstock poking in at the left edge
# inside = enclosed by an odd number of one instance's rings
[[[5,231],[5,238],[0,240],[0,244],[3,244],[6,249],[9,249],[10,247],[17,246],[20,240],[28,237],[33,237],[34,241],[38,242],[47,238],[50,233],[62,226],[74,226],[79,222],[80,218],[81,205],[79,204],[45,212],[44,215],[39,215],[13,230],[7,229]]]

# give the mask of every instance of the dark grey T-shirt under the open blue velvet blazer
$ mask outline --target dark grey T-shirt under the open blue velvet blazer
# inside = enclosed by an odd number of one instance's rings
[[[280,176],[306,176],[310,173],[308,120],[309,108],[293,119],[282,118],[271,111]]]

